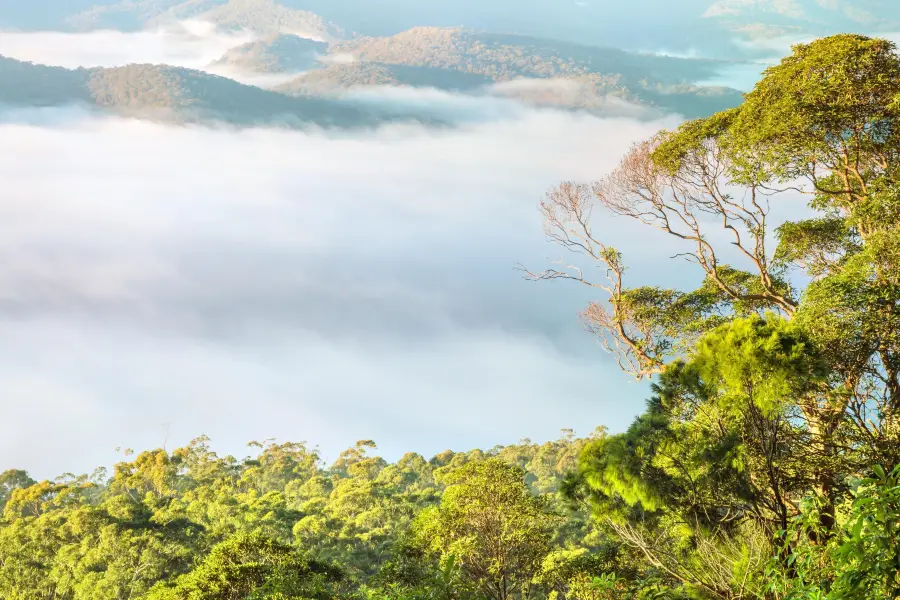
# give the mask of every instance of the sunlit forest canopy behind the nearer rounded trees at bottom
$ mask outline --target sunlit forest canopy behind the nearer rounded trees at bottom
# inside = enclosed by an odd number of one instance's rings
[[[513,492],[546,502],[538,525],[550,536],[541,560],[577,562],[608,550],[587,513],[557,495],[590,439],[564,432],[544,444],[523,440],[431,459],[409,453],[393,463],[362,441],[325,465],[302,443],[254,443],[255,455],[238,459],[218,456],[198,438],[172,452],[129,457],[111,473],[35,482],[7,471],[0,476],[0,597],[137,599],[156,586],[150,597],[168,598],[172,586],[188,585],[180,576],[198,577],[211,549],[228,540],[293,546],[312,564],[333,565],[340,575],[333,593],[412,583],[428,567],[416,564],[408,544],[414,520],[439,502],[453,474],[496,463],[512,469]],[[545,574],[550,587],[563,576],[554,569]]]

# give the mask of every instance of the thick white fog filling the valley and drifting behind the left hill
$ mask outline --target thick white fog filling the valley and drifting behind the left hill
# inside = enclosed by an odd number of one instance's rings
[[[239,35],[0,36],[62,66],[198,67]],[[105,36],[105,37],[104,37]],[[110,38],[112,36],[115,39]],[[117,447],[209,435],[359,439],[383,456],[554,439],[641,412],[586,333],[587,290],[527,282],[561,256],[538,203],[592,180],[677,116],[648,121],[502,98],[382,90],[458,126],[367,132],[174,127],[77,108],[0,111],[0,467],[109,465]],[[672,240],[598,231],[635,284],[690,274]]]

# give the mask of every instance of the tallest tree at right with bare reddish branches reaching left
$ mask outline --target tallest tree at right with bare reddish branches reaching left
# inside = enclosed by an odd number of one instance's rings
[[[832,505],[822,513],[830,526],[846,474],[900,457],[898,99],[890,42],[839,35],[798,45],[740,107],[661,132],[607,177],[548,195],[549,238],[599,263],[605,281],[568,263],[528,273],[603,291],[584,319],[638,378],[663,373],[734,319],[771,312],[802,330],[822,370],[803,379],[791,419],[802,422],[805,451],[824,461],[813,491]],[[773,230],[773,207],[797,195],[818,214]],[[628,288],[622,254],[595,233],[595,209],[679,240],[701,286]],[[756,370],[777,368],[757,358]]]

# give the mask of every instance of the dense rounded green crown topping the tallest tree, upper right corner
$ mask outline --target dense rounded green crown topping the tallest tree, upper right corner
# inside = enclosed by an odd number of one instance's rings
[[[745,175],[782,181],[806,176],[811,164],[837,166],[845,149],[867,160],[896,144],[898,92],[900,61],[887,40],[847,34],[799,44],[747,95],[727,144]]]

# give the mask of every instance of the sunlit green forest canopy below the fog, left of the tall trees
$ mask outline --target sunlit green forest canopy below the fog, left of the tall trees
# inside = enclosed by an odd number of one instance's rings
[[[497,597],[564,589],[620,555],[586,506],[557,493],[603,435],[395,463],[361,441],[330,466],[302,443],[255,442],[255,456],[237,459],[202,437],[112,473],[38,483],[7,471],[0,597],[494,597],[498,580],[475,574],[498,558],[508,583]],[[506,522],[484,521],[498,507]],[[484,544],[467,539],[473,525]]]

